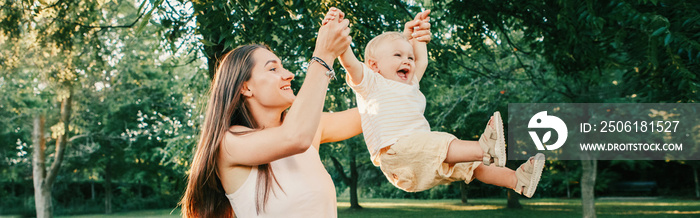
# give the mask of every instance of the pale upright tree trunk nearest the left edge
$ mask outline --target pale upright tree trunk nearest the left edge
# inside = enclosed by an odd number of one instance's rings
[[[34,117],[34,131],[32,131],[32,176],[34,179],[34,204],[36,207],[36,217],[51,217],[51,190],[45,188],[46,168],[45,150],[46,139],[44,138],[44,116]]]

